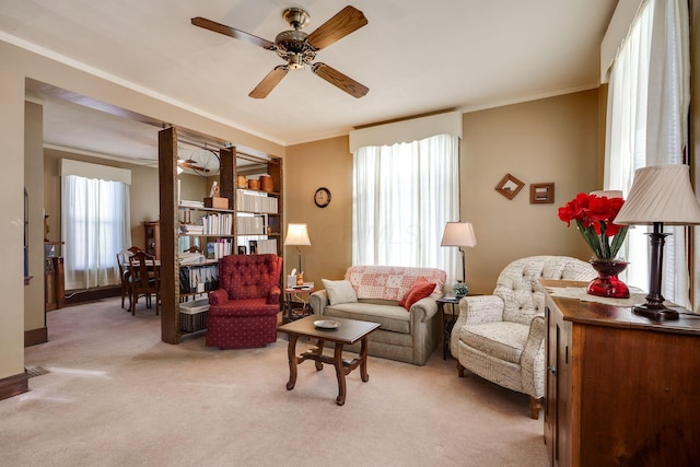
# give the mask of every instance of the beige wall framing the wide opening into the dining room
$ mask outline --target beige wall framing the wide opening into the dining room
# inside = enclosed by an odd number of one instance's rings
[[[284,157],[284,148],[236,128],[192,114],[155,97],[91,75],[78,69],[0,42],[0,157],[3,183],[0,191],[5,203],[5,224],[0,229],[0,257],[3,277],[0,294],[4,311],[0,326],[0,384],[24,373],[25,302],[24,280],[24,159],[25,159],[25,80],[27,78],[85,95],[121,108],[210,135],[234,144]],[[36,155],[40,159],[40,154]],[[46,177],[44,171],[27,176]],[[49,207],[47,207],[47,211]],[[35,213],[34,213],[35,214]],[[39,214],[39,215],[43,215]],[[57,221],[57,219],[54,219]],[[40,223],[43,225],[43,222]],[[52,232],[57,232],[52,229]],[[14,272],[13,272],[14,271]],[[43,295],[43,294],[42,294]],[[50,336],[49,336],[50,337]]]

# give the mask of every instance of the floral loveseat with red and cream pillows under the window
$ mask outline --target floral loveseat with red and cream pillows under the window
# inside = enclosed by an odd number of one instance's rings
[[[434,268],[352,266],[342,281],[324,279],[310,302],[317,315],[380,323],[369,354],[422,365],[441,339],[435,300],[445,276]],[[359,351],[359,343],[346,349]]]

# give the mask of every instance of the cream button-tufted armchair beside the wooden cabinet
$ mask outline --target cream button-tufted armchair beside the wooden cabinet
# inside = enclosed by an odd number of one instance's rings
[[[459,377],[465,369],[529,396],[539,418],[545,396],[545,288],[539,279],[590,281],[593,267],[565,256],[516,259],[501,271],[492,295],[465,296],[452,329]]]

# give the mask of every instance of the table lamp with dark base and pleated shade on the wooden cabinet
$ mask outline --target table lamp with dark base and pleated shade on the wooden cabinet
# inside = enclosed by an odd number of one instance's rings
[[[700,206],[690,185],[690,166],[686,164],[656,165],[638,168],[634,183],[614,221],[619,225],[653,225],[649,233],[651,245],[649,295],[646,303],[634,306],[634,314],[650,319],[678,319],[678,312],[664,305],[661,279],[664,224],[690,225],[700,223]]]

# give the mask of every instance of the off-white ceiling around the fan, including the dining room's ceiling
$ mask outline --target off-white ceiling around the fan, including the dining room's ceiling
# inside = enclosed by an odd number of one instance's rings
[[[442,109],[488,108],[597,86],[599,45],[617,0],[353,0],[369,24],[320,50],[370,87],[354,98],[290,71],[265,100],[253,87],[282,60],[192,26],[205,16],[275,40],[281,12],[304,8],[312,32],[343,8],[329,0],[2,0],[0,39],[94,68],[282,145]],[[82,65],[80,65],[82,63]],[[50,83],[49,83],[50,84]],[[148,125],[44,96],[49,145],[154,160]],[[235,143],[235,141],[233,141]]]

